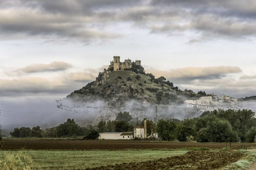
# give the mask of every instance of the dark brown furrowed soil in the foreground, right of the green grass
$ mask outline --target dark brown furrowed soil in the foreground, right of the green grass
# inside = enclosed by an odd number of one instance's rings
[[[160,158],[139,163],[123,163],[86,170],[210,170],[219,169],[236,162],[243,156],[239,151],[189,151],[184,155]]]

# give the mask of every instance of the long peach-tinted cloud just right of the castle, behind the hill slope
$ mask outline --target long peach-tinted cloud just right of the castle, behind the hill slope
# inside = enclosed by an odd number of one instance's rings
[[[155,77],[164,76],[173,81],[187,81],[194,79],[216,79],[225,77],[230,73],[240,73],[239,67],[215,66],[215,67],[186,67],[171,69],[169,71],[146,69],[146,72],[152,73]]]

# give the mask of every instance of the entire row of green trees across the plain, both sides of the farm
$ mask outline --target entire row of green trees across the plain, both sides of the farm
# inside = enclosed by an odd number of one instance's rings
[[[184,120],[162,118],[155,124],[147,121],[147,135],[151,129],[162,140],[197,141],[197,142],[256,142],[256,118],[252,110],[214,110],[206,111],[197,118]],[[78,137],[97,138],[101,132],[133,131],[137,126],[129,112],[119,112],[115,120],[101,120],[97,126],[80,127],[74,119],[56,127],[41,129],[39,126],[14,128],[13,137]],[[141,121],[139,126],[144,126]]]

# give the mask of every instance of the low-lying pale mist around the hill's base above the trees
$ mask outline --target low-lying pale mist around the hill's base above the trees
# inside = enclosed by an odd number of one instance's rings
[[[238,106],[255,111],[256,101],[239,102]],[[97,125],[100,120],[115,120],[117,113],[124,111],[129,112],[133,120],[154,120],[156,105],[130,100],[122,106],[112,107],[102,100],[73,102],[60,97],[37,96],[0,99],[0,110],[3,129],[12,131],[16,127],[54,127],[68,118],[74,118],[81,126]],[[158,118],[183,120],[200,115],[193,108],[185,108],[184,104],[157,105]]]

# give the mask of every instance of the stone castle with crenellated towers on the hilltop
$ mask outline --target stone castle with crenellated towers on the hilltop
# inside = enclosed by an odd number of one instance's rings
[[[110,65],[108,66],[109,69],[114,68],[114,71],[117,70],[124,70],[129,69],[132,67],[132,61],[128,58],[127,60],[124,60],[124,62],[120,62],[120,56],[114,56],[114,61],[110,61]],[[133,62],[135,65],[140,65],[140,60],[135,60]]]

